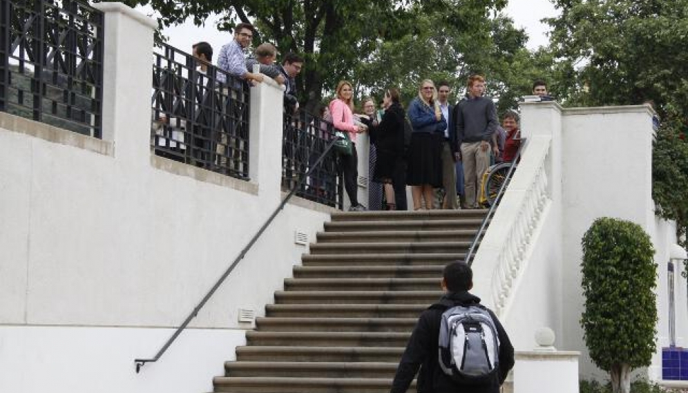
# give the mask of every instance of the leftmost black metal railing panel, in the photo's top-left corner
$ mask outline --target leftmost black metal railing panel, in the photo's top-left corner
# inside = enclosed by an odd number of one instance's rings
[[[102,137],[104,16],[74,0],[0,0],[0,111]]]

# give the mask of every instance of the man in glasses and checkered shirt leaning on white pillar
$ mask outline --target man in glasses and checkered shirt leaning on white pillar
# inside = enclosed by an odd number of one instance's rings
[[[251,39],[254,37],[254,26],[249,23],[239,23],[234,28],[234,39],[229,44],[224,44],[220,49],[220,56],[218,57],[218,68],[226,71],[233,77],[244,79],[245,81],[262,82],[262,75],[250,73],[246,68],[246,58],[244,57],[244,49],[251,44]],[[224,73],[219,73],[218,81],[227,83]],[[240,82],[235,82],[233,87],[240,87]]]

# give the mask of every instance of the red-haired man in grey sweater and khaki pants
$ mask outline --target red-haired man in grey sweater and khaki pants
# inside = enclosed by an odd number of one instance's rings
[[[464,209],[477,209],[476,194],[483,173],[490,166],[490,138],[499,121],[492,99],[483,97],[485,79],[481,75],[468,78],[468,94],[455,107],[457,140],[464,163]]]

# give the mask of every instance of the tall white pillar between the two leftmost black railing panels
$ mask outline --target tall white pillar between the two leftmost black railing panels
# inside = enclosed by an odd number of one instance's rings
[[[95,3],[105,14],[103,140],[115,158],[149,165],[155,21],[122,3]]]

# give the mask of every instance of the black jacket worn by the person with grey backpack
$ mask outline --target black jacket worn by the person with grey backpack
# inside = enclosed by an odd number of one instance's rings
[[[423,311],[401,356],[391,393],[406,392],[421,365],[418,393],[499,393],[499,386],[504,383],[506,375],[514,365],[514,348],[504,327],[490,310],[488,311],[495,321],[499,336],[499,372],[495,379],[487,385],[459,385],[439,367],[439,327],[442,313],[455,305],[479,303],[480,298],[464,291],[446,294],[438,303]]]

